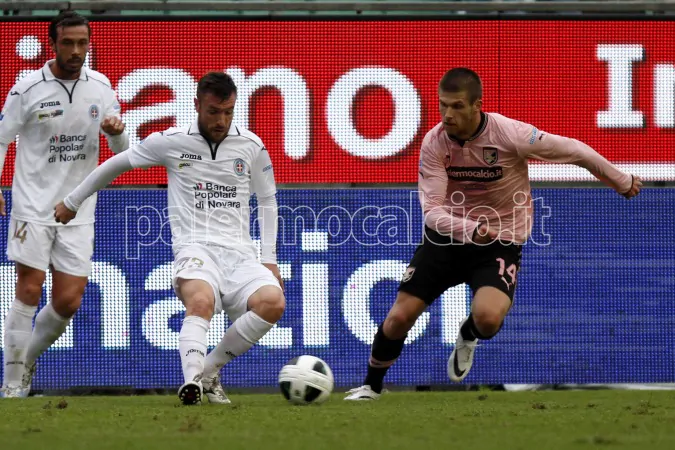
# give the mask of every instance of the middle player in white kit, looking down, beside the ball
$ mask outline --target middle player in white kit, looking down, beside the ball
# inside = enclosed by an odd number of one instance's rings
[[[232,123],[237,88],[229,75],[199,80],[197,120],[189,127],[153,133],[110,158],[63,203],[57,221],[72,220],[83,201],[135,167],[164,166],[174,253],[173,285],[186,308],[179,336],[184,404],[230,403],[219,372],[258,342],[285,309],[276,265],[276,185],[269,154],[253,133]],[[250,194],[258,198],[262,263],[250,230]],[[232,326],[205,358],[206,333],[224,310]]]

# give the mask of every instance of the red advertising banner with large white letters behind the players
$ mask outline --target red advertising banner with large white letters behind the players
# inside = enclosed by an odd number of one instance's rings
[[[0,37],[4,96],[52,51],[46,23],[0,23]],[[199,77],[229,73],[235,120],[263,139],[279,183],[416,182],[438,80],[459,66],[482,77],[486,111],[675,180],[675,22],[94,22],[88,64],[112,82],[132,143],[191,123]],[[2,184],[12,168],[13,151]],[[591,176],[534,163],[531,178]],[[160,168],[117,181],[165,182]]]

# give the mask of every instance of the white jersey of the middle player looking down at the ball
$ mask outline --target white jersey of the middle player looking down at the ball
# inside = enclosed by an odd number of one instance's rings
[[[168,209],[162,215],[171,223],[174,253],[200,243],[257,256],[249,200],[251,194],[276,194],[272,162],[258,136],[232,124],[228,136],[214,144],[195,120],[189,127],[153,133],[127,152],[136,168],[166,167]]]

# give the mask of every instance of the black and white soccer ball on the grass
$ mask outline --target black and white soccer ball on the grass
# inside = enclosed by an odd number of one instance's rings
[[[333,392],[333,372],[316,356],[298,356],[281,369],[279,387],[286,400],[295,405],[320,404]]]

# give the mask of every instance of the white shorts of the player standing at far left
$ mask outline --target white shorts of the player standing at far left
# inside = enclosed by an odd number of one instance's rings
[[[77,277],[91,273],[94,254],[94,224],[70,227],[9,221],[7,259],[34,269],[54,269]]]

